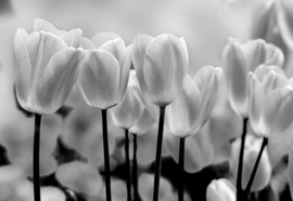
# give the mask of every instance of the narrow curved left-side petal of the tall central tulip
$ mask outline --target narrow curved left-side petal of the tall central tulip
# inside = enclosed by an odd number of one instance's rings
[[[140,84],[143,96],[149,100],[148,90],[143,76],[144,54],[146,46],[153,40],[152,37],[145,35],[139,35],[133,41],[132,48],[132,62],[137,71],[137,78]]]

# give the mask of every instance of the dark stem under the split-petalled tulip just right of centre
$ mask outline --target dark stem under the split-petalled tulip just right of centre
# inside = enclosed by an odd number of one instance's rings
[[[186,150],[186,138],[180,138],[179,146],[179,186],[178,186],[178,200],[184,200],[184,150]]]

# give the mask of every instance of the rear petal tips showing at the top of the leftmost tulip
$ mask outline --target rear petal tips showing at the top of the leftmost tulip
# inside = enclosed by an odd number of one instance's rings
[[[34,21],[34,31],[51,32],[61,38],[68,46],[78,48],[82,37],[82,30],[77,28],[69,31],[59,30],[51,23],[36,18]]]

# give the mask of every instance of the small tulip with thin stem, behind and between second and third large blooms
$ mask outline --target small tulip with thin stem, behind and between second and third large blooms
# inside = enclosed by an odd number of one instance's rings
[[[143,112],[143,105],[135,96],[132,88],[129,86],[133,83],[133,76],[136,72],[130,71],[128,88],[123,99],[119,104],[111,109],[112,119],[114,123],[125,130],[125,158],[126,158],[126,170],[127,170],[127,197],[128,201],[131,200],[131,184],[130,184],[130,162],[129,162],[129,138],[128,130],[135,125],[140,119]]]

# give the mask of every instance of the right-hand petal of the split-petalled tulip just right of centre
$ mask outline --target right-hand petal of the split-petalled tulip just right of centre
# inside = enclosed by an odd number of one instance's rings
[[[193,78],[193,82],[199,88],[202,96],[202,122],[198,129],[201,129],[205,124],[217,100],[221,72],[220,68],[205,66]]]

